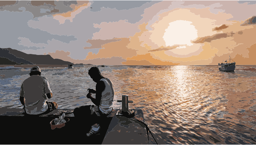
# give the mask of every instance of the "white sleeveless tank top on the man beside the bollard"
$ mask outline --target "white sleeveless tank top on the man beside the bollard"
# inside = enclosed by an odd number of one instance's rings
[[[115,88],[111,80],[101,79],[105,83],[105,90],[102,92],[100,111],[107,114],[112,110]]]

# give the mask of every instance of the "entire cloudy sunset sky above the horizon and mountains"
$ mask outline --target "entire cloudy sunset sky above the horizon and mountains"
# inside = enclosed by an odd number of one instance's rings
[[[0,1],[0,48],[75,64],[256,65],[256,1]]]

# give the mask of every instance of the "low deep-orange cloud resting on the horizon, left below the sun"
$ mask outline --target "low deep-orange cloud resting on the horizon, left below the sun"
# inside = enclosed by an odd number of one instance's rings
[[[172,63],[169,61],[161,61],[153,58],[150,53],[133,56],[126,58],[126,62],[122,62],[123,65],[180,65],[180,63]]]

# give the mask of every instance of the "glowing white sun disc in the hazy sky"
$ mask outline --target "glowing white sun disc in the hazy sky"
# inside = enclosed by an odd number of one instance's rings
[[[163,36],[165,45],[193,45],[190,41],[197,38],[197,30],[191,23],[192,22],[190,21],[184,20],[177,20],[169,23],[169,27],[165,29]],[[182,48],[184,48],[184,46]]]

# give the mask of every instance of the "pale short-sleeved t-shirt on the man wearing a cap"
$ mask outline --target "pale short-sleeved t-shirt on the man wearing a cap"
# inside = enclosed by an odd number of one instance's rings
[[[24,80],[20,87],[20,96],[25,98],[25,110],[28,114],[44,113],[48,109],[46,94],[51,93],[47,78],[32,75]]]

